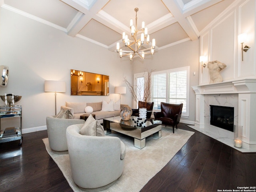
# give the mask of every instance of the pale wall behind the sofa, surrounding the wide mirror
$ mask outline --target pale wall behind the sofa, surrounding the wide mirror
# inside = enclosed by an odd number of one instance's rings
[[[125,86],[123,76],[132,77],[132,66],[115,52],[66,33],[0,9],[0,65],[9,67],[7,86],[0,95],[22,96],[23,132],[45,129],[46,116],[54,115],[54,93],[44,92],[44,80],[66,82],[66,92],[57,93],[57,113],[68,102],[100,102],[113,98],[115,86]],[[70,96],[70,69],[110,76],[110,96]],[[132,79],[132,78],[131,78]],[[122,103],[132,104],[130,93],[122,95]],[[0,105],[4,102],[0,100]],[[10,119],[10,118],[9,118]],[[7,120],[6,120],[7,121]],[[4,122],[3,124],[8,124]]]

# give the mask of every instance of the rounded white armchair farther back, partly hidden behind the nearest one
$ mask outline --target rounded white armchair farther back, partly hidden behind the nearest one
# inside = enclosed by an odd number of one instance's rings
[[[54,116],[46,117],[46,127],[50,148],[56,154],[67,154],[68,145],[66,129],[70,125],[84,123],[82,119],[61,119]]]

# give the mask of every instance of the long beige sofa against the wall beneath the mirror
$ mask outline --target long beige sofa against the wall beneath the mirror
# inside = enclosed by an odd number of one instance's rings
[[[124,104],[119,104],[120,108],[125,106]],[[114,111],[102,111],[102,102],[66,102],[66,106],[61,106],[61,109],[67,110],[73,114],[74,119],[80,119],[80,115],[86,114],[85,107],[91,106],[93,108],[92,114],[95,114],[95,119],[98,120],[101,124],[103,123],[104,118],[120,116],[120,109]]]

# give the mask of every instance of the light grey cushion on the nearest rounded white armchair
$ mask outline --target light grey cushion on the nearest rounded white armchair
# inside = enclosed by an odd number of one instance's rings
[[[104,136],[104,128],[98,120],[95,120],[93,116],[90,115],[80,129],[80,134],[88,136]]]

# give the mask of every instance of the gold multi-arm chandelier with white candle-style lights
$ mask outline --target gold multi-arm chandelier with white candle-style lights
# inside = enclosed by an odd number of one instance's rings
[[[134,58],[134,56],[138,55],[142,60],[144,60],[145,54],[151,54],[154,55],[154,49],[156,47],[156,40],[152,39],[152,46],[151,48],[146,48],[143,50],[140,50],[144,44],[144,38],[146,38],[146,44],[149,44],[149,34],[148,34],[148,28],[145,27],[145,22],[142,21],[142,28],[137,29],[137,12],[138,8],[135,8],[134,11],[136,12],[136,18],[135,18],[135,26],[133,25],[132,19],[130,20],[130,29],[131,29],[131,36],[134,40],[128,39],[128,35],[123,32],[122,40],[124,42],[124,45],[128,47],[130,50],[122,50],[120,49],[120,44],[116,43],[116,52],[119,53],[120,58],[125,56],[130,56],[130,60]],[[140,35],[140,39],[137,38],[138,32],[142,31]]]

